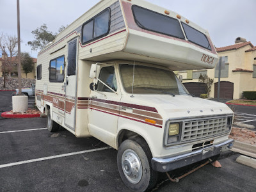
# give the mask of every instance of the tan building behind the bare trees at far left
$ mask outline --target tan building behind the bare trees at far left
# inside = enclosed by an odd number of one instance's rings
[[[4,59],[6,59],[6,58],[4,58],[4,55],[2,55],[2,57],[0,58],[0,77],[3,77],[3,75],[4,75],[4,69],[2,67]],[[11,59],[8,57],[8,60],[11,60]],[[13,61],[12,71],[9,72],[8,67],[6,67],[5,72],[8,73],[12,77],[18,77],[17,58],[12,57],[12,61]],[[27,74],[28,79],[35,79],[35,77],[36,77],[36,62],[37,62],[36,58],[33,58],[33,63],[34,63],[33,70],[32,70],[32,72]],[[26,78],[26,74],[22,71],[22,68],[21,68],[21,77]]]

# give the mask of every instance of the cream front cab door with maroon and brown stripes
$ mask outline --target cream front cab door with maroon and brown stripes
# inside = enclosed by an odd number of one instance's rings
[[[100,68],[99,79],[116,93],[98,81],[95,91],[90,93],[88,127],[92,136],[114,147],[121,99],[115,67]]]

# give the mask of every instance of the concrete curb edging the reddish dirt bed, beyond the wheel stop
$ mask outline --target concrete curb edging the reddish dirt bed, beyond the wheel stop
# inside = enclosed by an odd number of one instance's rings
[[[239,152],[245,156],[250,156],[256,158],[256,145],[251,145],[248,143],[243,143],[241,141],[234,141],[233,152]]]

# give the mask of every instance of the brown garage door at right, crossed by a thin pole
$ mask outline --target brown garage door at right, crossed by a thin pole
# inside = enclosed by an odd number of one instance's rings
[[[220,82],[220,98],[221,99],[233,99],[234,83],[229,81]],[[218,82],[214,83],[214,97],[218,97]]]

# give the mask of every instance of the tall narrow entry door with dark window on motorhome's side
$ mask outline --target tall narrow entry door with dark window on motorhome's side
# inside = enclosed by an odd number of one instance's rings
[[[68,42],[65,125],[76,129],[77,38]]]

